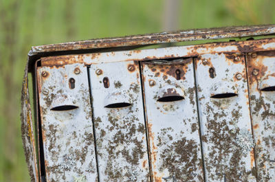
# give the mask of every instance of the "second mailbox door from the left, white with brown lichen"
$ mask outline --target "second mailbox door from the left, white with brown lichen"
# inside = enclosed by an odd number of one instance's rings
[[[91,65],[100,181],[149,181],[138,62]]]

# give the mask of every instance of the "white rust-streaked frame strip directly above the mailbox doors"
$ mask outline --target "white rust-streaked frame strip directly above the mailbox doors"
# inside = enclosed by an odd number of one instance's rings
[[[41,58],[43,66],[61,66],[67,64],[84,63],[91,65],[103,62],[118,62],[127,60],[156,60],[177,57],[195,57],[201,54],[218,53],[247,53],[272,50],[275,47],[275,38],[237,41],[223,43],[209,43],[204,45],[188,45],[179,47],[166,47],[159,49],[143,49],[123,52],[102,52],[94,54],[78,54],[66,56],[50,56]]]

